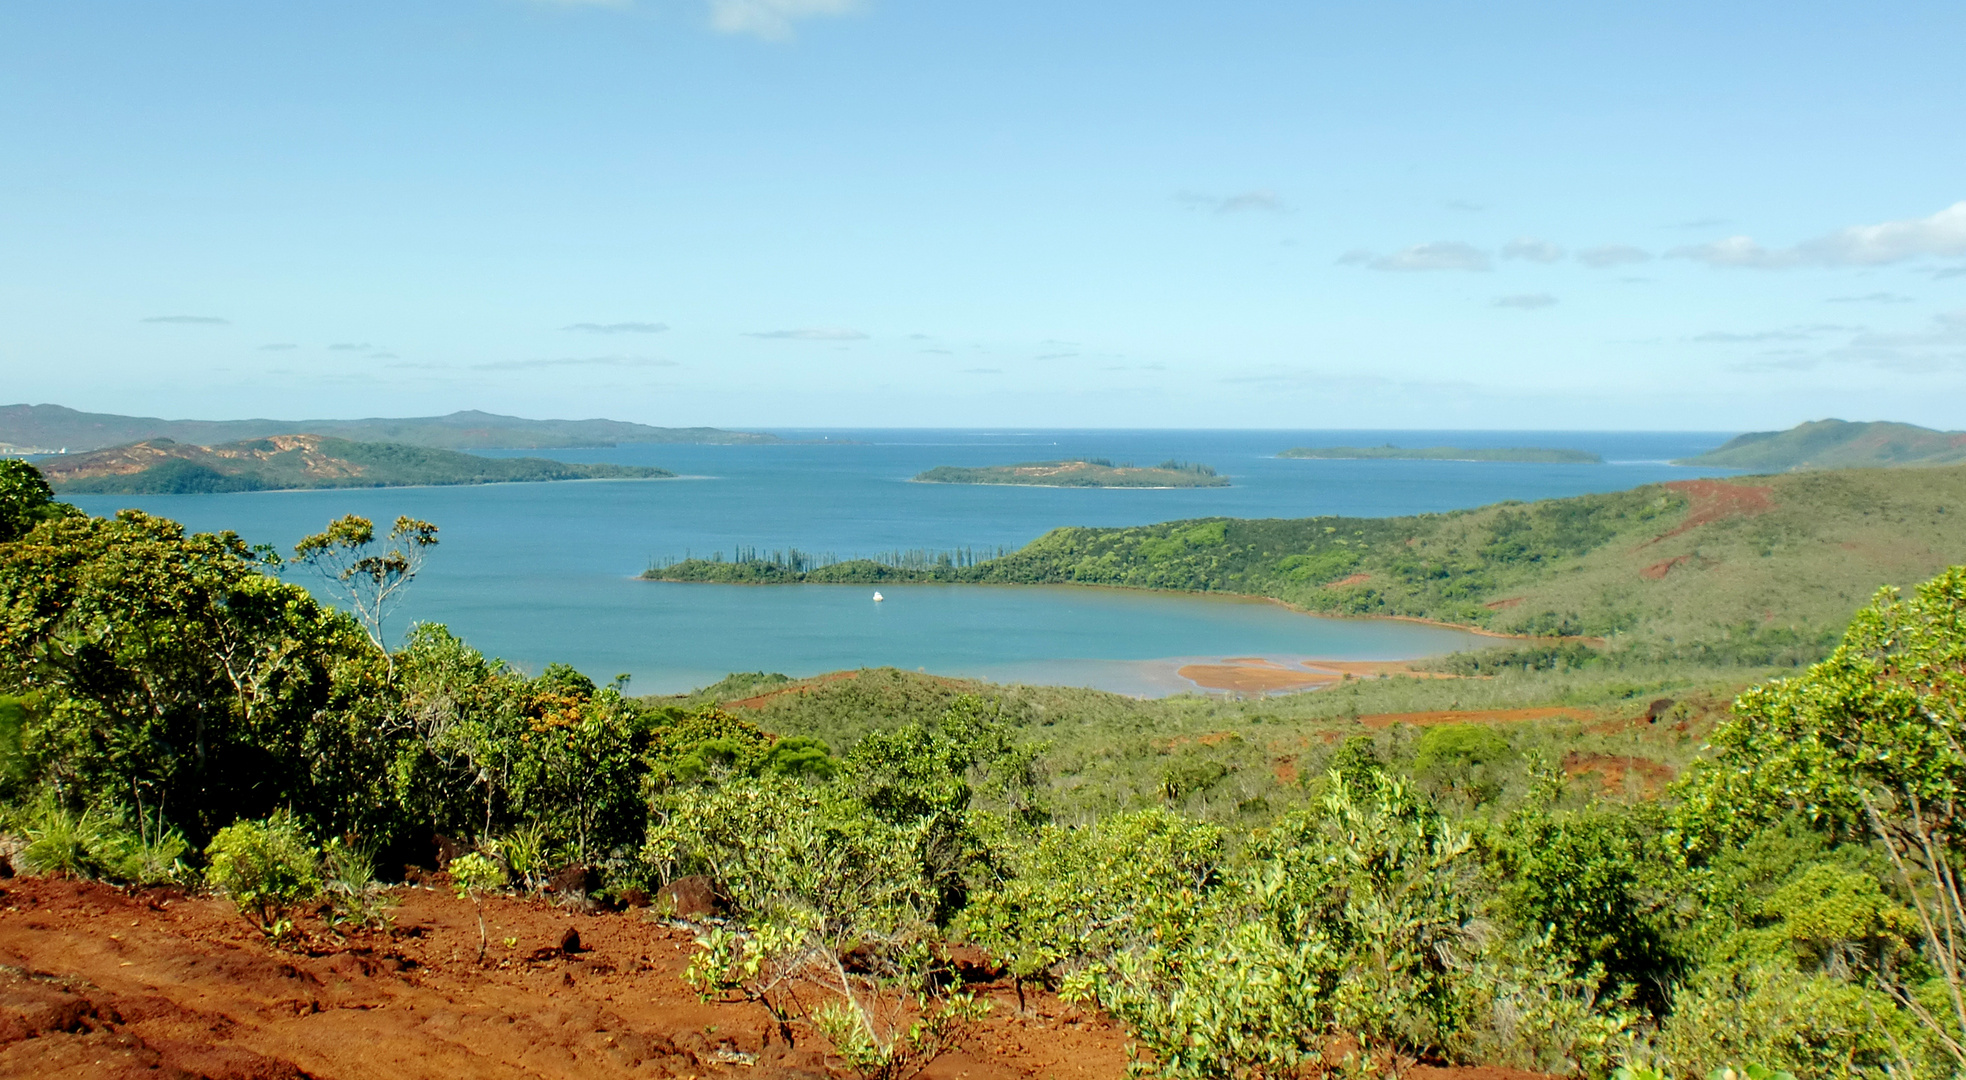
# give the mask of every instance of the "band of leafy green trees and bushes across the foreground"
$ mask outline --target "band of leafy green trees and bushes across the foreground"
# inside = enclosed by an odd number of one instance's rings
[[[981,1009],[940,978],[950,938],[1097,1001],[1166,1076],[1333,1047],[1590,1076],[1966,1068],[1966,569],[1742,694],[1663,799],[1598,803],[1490,728],[1441,728],[1404,757],[1337,746],[1241,828],[1184,816],[1207,777],[1174,765],[1164,805],[1054,816],[1046,746],[991,700],[830,748],[529,677],[440,626],[391,647],[377,596],[434,541],[419,521],[397,547],[360,519],[303,545],[374,586],[358,620],[236,535],[0,480],[0,805],[28,870],[202,881],[275,936],[307,905],[370,919],[368,868],[429,864],[438,836],[474,901],[570,864],[602,899],[700,875],[731,923],[690,980],[879,1076]],[[918,995],[906,1023],[895,991]]]

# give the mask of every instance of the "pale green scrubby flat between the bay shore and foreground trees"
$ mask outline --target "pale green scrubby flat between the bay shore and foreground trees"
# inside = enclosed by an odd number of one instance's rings
[[[1020,738],[1046,744],[1040,757],[1052,807],[1062,820],[1150,805],[1185,812],[1260,822],[1311,797],[1305,779],[1319,777],[1335,748],[1353,736],[1370,738],[1382,757],[1412,755],[1419,728],[1386,724],[1384,714],[1445,708],[1488,710],[1573,706],[1583,716],[1498,724],[1518,751],[1508,783],[1528,783],[1532,751],[1551,765],[1579,755],[1628,755],[1679,769],[1703,736],[1752,679],[1742,669],[1585,669],[1508,673],[1496,679],[1370,679],[1329,690],[1227,700],[1176,696],[1138,700],[1066,687],[999,687],[895,669],[794,683],[733,677],[723,698],[745,720],[784,736],[816,736],[845,751],[871,730],[934,722],[963,692],[995,702]],[[1671,696],[1675,710],[1659,724],[1642,720],[1648,702]],[[676,700],[676,698],[653,698]],[[1364,720],[1360,720],[1364,718]],[[1219,769],[1217,769],[1219,767]],[[1211,777],[1195,791],[1170,797],[1170,775]],[[1602,787],[1602,777],[1573,785],[1577,797]],[[1610,795],[1638,797],[1636,787]]]

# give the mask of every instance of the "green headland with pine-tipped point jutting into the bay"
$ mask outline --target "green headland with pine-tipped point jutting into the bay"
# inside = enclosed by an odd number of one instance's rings
[[[1803,663],[1878,584],[1966,561],[1966,468],[1681,480],[1414,517],[1054,529],[973,567],[684,561],[661,580],[1077,582],[1604,637],[1630,657]]]

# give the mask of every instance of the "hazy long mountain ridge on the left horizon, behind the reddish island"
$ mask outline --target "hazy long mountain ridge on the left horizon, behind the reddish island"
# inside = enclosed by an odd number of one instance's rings
[[[358,443],[403,443],[446,450],[547,450],[621,443],[782,443],[777,435],[718,427],[649,427],[611,419],[525,419],[466,409],[444,417],[169,421],[83,413],[63,405],[0,405],[0,445],[73,452],[173,439],[199,447],[267,435],[332,435]]]

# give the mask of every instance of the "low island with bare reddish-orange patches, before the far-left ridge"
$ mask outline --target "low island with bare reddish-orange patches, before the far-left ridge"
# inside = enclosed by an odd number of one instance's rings
[[[299,488],[403,488],[529,480],[651,480],[666,468],[568,464],[547,458],[482,458],[403,443],[354,443],[324,435],[273,435],[218,447],[149,439],[87,454],[41,458],[61,494],[183,496]]]

